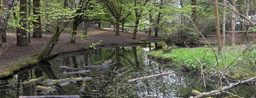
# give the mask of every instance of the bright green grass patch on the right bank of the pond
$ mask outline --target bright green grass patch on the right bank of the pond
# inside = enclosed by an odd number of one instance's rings
[[[215,48],[217,49],[217,48]],[[245,51],[244,51],[245,50]],[[243,52],[243,53],[242,53]],[[162,50],[152,51],[153,57],[165,61],[172,61],[173,64],[180,66],[185,65],[191,70],[201,70],[201,66],[206,73],[211,73],[211,69],[223,71],[235,78],[246,78],[255,75],[256,68],[256,49],[251,47],[225,48],[219,57],[215,50],[217,60],[211,48],[179,48],[173,49],[170,53],[164,53]],[[227,71],[228,70],[228,71]],[[251,74],[251,75],[249,75]],[[230,77],[231,78],[231,77]]]

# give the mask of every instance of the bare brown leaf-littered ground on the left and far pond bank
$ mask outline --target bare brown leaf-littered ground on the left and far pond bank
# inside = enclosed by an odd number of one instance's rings
[[[81,29],[81,28],[80,28]],[[78,34],[81,36],[82,34]],[[104,45],[126,45],[138,44],[141,38],[146,38],[149,42],[156,41],[161,37],[149,36],[145,33],[137,33],[138,40],[131,40],[133,33],[120,31],[120,36],[114,36],[115,33],[111,29],[89,28],[89,40],[82,41],[80,37],[76,38],[77,44],[71,44],[71,34],[62,33],[58,44],[53,48],[52,53],[75,52],[83,50],[85,46],[99,42]],[[43,38],[31,37],[31,43],[28,46],[16,45],[16,34],[7,34],[7,42],[5,42],[0,50],[0,74],[4,73],[7,68],[13,68],[12,64],[21,60],[22,57],[29,56],[41,52],[45,48],[51,34],[42,34]]]

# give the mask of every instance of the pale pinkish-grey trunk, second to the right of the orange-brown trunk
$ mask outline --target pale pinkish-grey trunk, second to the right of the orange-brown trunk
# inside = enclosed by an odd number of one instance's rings
[[[236,0],[232,0],[232,6],[234,9],[236,6]],[[234,46],[235,45],[235,12],[233,11],[231,14],[231,42],[230,42],[230,46]]]

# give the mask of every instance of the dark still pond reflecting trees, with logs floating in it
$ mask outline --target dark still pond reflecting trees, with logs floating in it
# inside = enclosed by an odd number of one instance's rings
[[[80,98],[188,98],[193,96],[190,93],[192,90],[208,92],[218,85],[205,80],[204,87],[201,76],[194,75],[193,72],[182,72],[175,65],[149,60],[149,50],[151,48],[143,46],[117,46],[61,54],[51,61],[19,72],[12,78],[0,80],[0,98],[36,95],[79,95]],[[72,73],[77,71],[80,72]],[[172,71],[174,73],[129,81]],[[36,78],[42,80],[24,83]],[[256,96],[255,88],[251,86],[240,86],[232,91],[246,98]]]

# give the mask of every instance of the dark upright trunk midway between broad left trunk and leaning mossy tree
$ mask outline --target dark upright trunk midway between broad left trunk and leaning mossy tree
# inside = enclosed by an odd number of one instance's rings
[[[36,18],[37,22],[33,21],[33,25],[34,27],[34,31],[33,31],[33,37],[34,38],[42,38],[42,34],[41,34],[41,16],[39,11],[40,8],[40,0],[33,0],[33,14],[34,14],[34,18]]]

